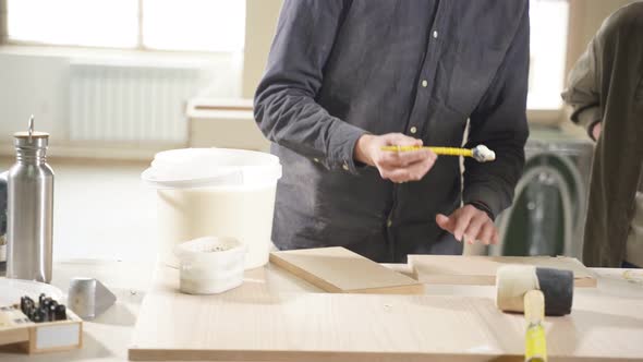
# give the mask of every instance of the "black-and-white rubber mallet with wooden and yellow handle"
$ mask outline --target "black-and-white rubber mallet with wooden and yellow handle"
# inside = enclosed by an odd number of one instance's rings
[[[573,300],[573,273],[531,265],[506,265],[496,274],[496,305],[504,312],[524,312],[525,361],[547,361],[545,315],[566,315]]]

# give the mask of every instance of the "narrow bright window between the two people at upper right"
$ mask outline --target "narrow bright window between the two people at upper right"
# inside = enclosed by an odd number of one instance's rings
[[[569,2],[532,0],[529,109],[560,109],[565,85]]]

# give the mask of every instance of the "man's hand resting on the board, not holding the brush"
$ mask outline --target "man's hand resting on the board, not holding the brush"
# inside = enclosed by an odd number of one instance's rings
[[[496,229],[494,221],[487,213],[475,206],[464,205],[449,216],[438,214],[435,220],[440,228],[452,233],[458,241],[462,241],[462,237],[464,237],[470,244],[475,241],[485,245],[498,242],[498,229]]]

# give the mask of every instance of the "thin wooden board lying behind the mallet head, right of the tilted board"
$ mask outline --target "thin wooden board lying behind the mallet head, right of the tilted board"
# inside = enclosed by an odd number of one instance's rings
[[[527,264],[572,270],[575,287],[596,287],[594,273],[573,257],[409,255],[409,264],[415,278],[425,283],[493,286],[498,267]]]

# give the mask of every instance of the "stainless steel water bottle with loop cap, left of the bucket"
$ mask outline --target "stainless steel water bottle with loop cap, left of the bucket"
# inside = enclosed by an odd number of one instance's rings
[[[53,171],[47,165],[49,134],[14,134],[16,162],[7,173],[7,277],[51,281]]]

